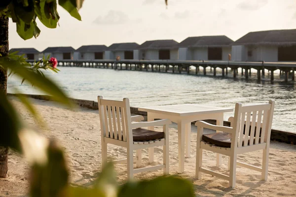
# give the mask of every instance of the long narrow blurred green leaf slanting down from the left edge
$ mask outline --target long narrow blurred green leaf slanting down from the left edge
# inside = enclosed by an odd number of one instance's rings
[[[47,77],[37,74],[31,69],[28,63],[20,62],[19,59],[9,59],[9,57],[0,58],[0,65],[10,69],[21,78],[25,78],[31,84],[34,84],[39,90],[51,95],[56,101],[69,107],[73,107],[72,102],[67,95],[56,85],[54,81]],[[28,66],[28,67],[25,67]]]

